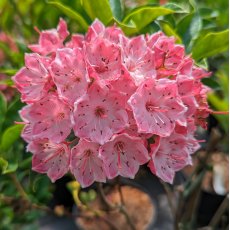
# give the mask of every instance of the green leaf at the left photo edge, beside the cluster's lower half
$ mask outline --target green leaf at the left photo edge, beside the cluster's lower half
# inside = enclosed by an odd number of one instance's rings
[[[0,148],[7,151],[13,143],[20,137],[24,125],[13,125],[5,130],[2,135]]]

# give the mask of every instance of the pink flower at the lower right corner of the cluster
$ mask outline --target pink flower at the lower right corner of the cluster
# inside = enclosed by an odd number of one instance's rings
[[[151,145],[151,160],[148,164],[153,174],[165,182],[173,183],[175,172],[192,164],[187,140],[173,133],[169,137],[156,137]]]

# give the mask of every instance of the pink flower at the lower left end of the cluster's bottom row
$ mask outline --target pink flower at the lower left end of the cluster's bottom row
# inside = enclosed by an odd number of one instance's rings
[[[33,153],[32,169],[47,173],[52,182],[69,171],[70,150],[66,144],[36,139],[28,145],[27,150]]]

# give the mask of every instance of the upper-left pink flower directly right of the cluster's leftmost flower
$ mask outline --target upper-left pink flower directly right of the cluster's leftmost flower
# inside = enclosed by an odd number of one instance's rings
[[[51,73],[61,99],[73,105],[88,88],[84,55],[79,49],[58,49]]]

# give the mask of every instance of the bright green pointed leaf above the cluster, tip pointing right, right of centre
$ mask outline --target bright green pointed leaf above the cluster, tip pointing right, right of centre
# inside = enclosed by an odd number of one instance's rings
[[[124,24],[132,23],[137,27],[138,31],[140,31],[159,16],[164,16],[172,13],[174,13],[173,10],[164,7],[144,6],[136,8],[130,12],[122,22]]]

